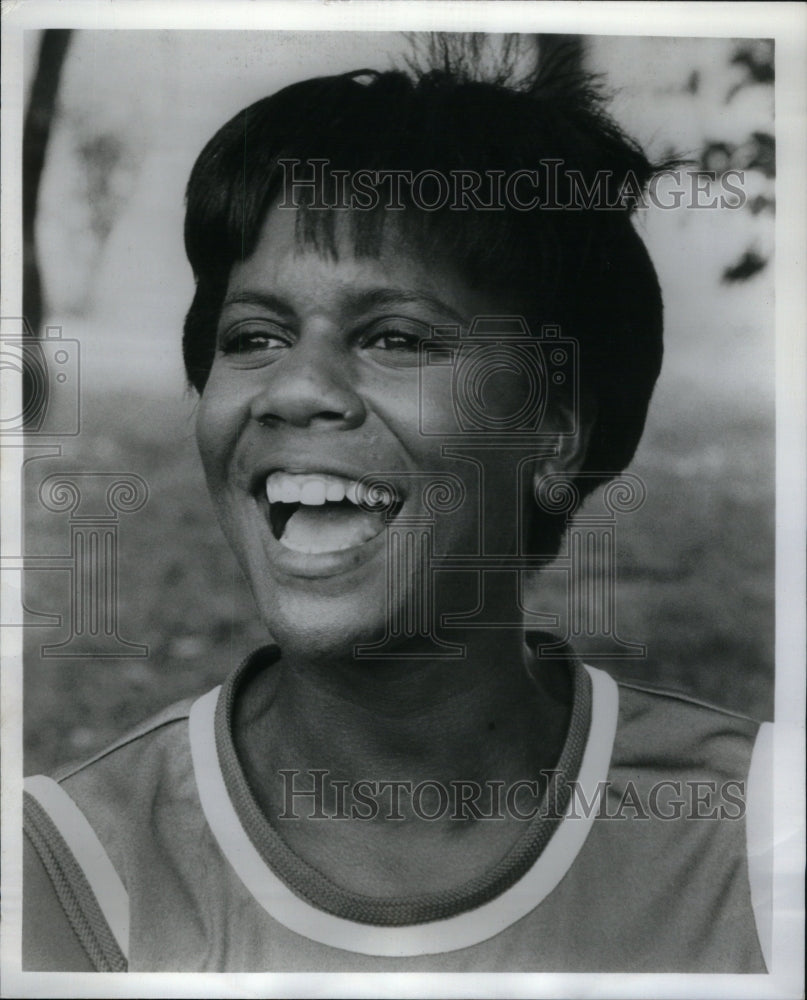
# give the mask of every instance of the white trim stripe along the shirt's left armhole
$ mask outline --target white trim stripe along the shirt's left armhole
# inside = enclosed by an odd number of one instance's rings
[[[84,813],[52,778],[26,778],[24,789],[56,827],[92,890],[124,958],[129,956],[129,894]]]

